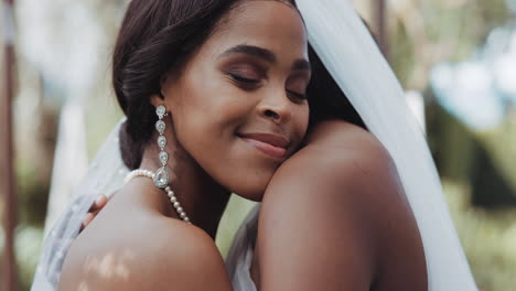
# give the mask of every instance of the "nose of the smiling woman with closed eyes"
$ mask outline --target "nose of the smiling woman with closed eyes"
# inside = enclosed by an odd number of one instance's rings
[[[292,118],[292,104],[286,93],[269,94],[259,105],[262,117],[271,119],[276,123],[286,123]]]

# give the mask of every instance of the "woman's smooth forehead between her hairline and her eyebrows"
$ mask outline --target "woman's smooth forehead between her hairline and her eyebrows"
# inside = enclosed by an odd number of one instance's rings
[[[244,1],[226,15],[206,44],[221,50],[235,44],[256,45],[273,52],[290,50],[307,58],[307,33],[299,12],[277,0]]]

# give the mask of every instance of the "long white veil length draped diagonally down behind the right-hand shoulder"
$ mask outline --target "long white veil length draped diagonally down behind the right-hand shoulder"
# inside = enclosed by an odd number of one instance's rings
[[[348,0],[297,2],[312,47],[396,163],[421,233],[429,290],[477,290],[423,132],[368,30]]]

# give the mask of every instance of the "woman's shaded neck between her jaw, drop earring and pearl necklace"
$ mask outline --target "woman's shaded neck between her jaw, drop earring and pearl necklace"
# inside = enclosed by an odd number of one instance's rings
[[[165,132],[169,153],[166,170],[169,172],[169,185],[174,191],[178,201],[185,211],[190,220],[195,226],[206,231],[213,239],[218,228],[221,217],[229,200],[229,192],[214,181],[197,162],[179,144],[175,137]],[[155,134],[152,140],[157,140]],[[157,171],[161,168],[159,162],[159,148],[151,142],[144,153],[140,169]],[[149,186],[153,186],[153,183]],[[158,190],[160,195],[149,195],[152,205],[164,215],[179,218],[164,191]],[[161,193],[160,193],[161,192]],[[164,209],[164,211],[163,211]],[[168,209],[168,211],[166,211]]]

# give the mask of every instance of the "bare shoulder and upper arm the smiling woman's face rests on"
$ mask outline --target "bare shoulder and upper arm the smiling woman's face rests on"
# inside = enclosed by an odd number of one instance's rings
[[[259,219],[266,284],[275,281],[275,261],[276,273],[287,265],[287,276],[299,272],[302,279],[291,281],[300,283],[297,290],[369,290],[377,283],[424,290],[422,244],[396,166],[381,143],[354,125],[319,125],[307,146],[276,172]],[[279,251],[297,259],[277,261]]]

